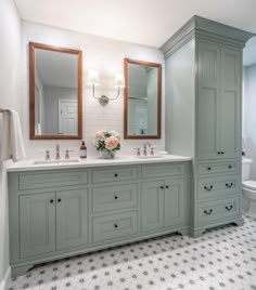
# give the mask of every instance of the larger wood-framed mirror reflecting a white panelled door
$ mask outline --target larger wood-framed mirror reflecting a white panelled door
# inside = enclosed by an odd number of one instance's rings
[[[81,139],[81,51],[29,42],[31,140]]]

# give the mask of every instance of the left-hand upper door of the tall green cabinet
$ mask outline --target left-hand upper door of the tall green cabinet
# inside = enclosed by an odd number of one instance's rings
[[[197,156],[216,159],[219,151],[220,48],[199,43]]]

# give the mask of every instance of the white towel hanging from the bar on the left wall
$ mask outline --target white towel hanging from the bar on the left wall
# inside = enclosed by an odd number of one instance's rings
[[[15,110],[4,111],[1,126],[1,161],[18,161],[26,157],[18,114]]]

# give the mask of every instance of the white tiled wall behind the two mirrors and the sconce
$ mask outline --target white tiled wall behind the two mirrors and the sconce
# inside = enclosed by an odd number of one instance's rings
[[[84,58],[84,106],[82,106],[82,136],[88,145],[88,154],[97,155],[92,145],[92,137],[95,131],[100,129],[114,129],[123,135],[124,123],[124,100],[123,93],[117,101],[110,102],[106,107],[102,107],[91,95],[91,88],[87,85],[88,71],[91,68],[98,69],[100,74],[100,85],[97,87],[97,95],[106,94],[114,96],[116,90],[114,88],[114,78],[116,72],[123,71],[123,63],[125,57],[161,63],[164,68],[163,53],[154,48],[143,47],[139,44],[111,40],[102,37],[79,34],[75,31],[64,30],[23,22],[23,58],[22,58],[22,94],[21,102],[23,104],[23,129],[25,133],[25,142],[28,158],[41,156],[38,150],[50,148],[54,150],[56,141],[29,141],[28,127],[28,42],[41,42],[46,44],[59,45],[64,48],[73,48],[82,50]],[[102,85],[102,83],[104,85]],[[164,81],[163,81],[164,92]],[[163,95],[164,100],[164,95]],[[165,102],[163,101],[163,107]],[[164,113],[164,109],[163,109]],[[164,114],[163,114],[164,120]],[[163,139],[153,141],[154,146],[164,148],[164,122],[162,127]],[[80,146],[79,141],[60,141],[61,149],[77,149]],[[143,141],[121,141],[121,154],[130,155],[133,147],[142,145]],[[77,153],[76,151],[76,153]]]

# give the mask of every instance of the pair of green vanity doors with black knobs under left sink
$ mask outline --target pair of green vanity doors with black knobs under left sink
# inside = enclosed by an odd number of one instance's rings
[[[21,256],[86,245],[87,200],[87,189],[21,195]]]

